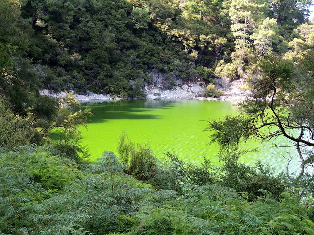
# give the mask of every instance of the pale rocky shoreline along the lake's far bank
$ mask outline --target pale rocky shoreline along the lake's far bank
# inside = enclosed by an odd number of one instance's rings
[[[203,87],[198,83],[187,83],[184,85],[176,85],[171,90],[160,89],[153,85],[144,87],[143,91],[146,93],[146,99],[166,98],[166,99],[197,99],[197,100],[242,100],[246,97],[245,91],[242,91],[236,84],[224,89],[225,96],[220,98],[211,98],[202,96]],[[52,97],[64,97],[64,91],[54,92],[50,90],[41,90],[41,95]],[[86,95],[74,93],[77,101],[97,101],[97,100],[122,100],[122,98],[112,97],[110,95],[95,94],[91,91],[86,91]]]

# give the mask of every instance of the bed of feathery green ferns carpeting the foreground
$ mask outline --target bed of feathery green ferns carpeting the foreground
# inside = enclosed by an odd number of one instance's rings
[[[34,164],[35,160],[41,167],[46,166],[44,163],[52,157],[48,152],[43,147],[24,147],[19,152],[1,154],[0,229],[3,234],[314,232],[314,223],[309,219],[311,211],[289,193],[281,194],[279,202],[271,192],[260,190],[261,196],[250,202],[235,190],[217,184],[181,184],[180,194],[171,190],[155,191],[150,185],[122,173],[123,165],[111,152],[106,152],[98,162],[82,165],[82,170],[77,170],[72,162],[66,167],[78,174],[69,185],[58,193],[45,190],[42,185],[53,188],[54,184],[36,180],[36,166],[29,163]],[[54,167],[65,170],[65,159],[53,158]]]

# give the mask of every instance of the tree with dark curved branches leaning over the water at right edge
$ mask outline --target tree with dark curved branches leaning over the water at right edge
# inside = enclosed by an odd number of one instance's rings
[[[238,104],[240,114],[209,121],[205,130],[214,131],[210,143],[218,143],[223,150],[252,138],[265,143],[284,136],[289,141],[288,145],[297,149],[300,159],[300,169],[295,179],[299,180],[305,175],[313,178],[313,55],[313,51],[304,54],[298,68],[276,55],[258,58],[256,74],[247,81],[250,93]],[[298,76],[296,70],[299,71]],[[302,70],[304,74],[300,73]],[[286,144],[274,143],[274,146]],[[306,154],[306,151],[310,153]],[[286,176],[290,179],[293,179],[289,172],[292,157],[290,154],[286,168]]]

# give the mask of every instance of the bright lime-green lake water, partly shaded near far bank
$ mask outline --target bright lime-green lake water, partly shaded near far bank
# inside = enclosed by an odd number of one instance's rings
[[[203,155],[218,163],[218,148],[207,146],[209,132],[203,132],[207,123],[203,120],[236,115],[235,102],[199,100],[139,100],[115,101],[86,104],[94,117],[90,118],[88,131],[81,127],[82,141],[89,147],[91,160],[100,158],[105,150],[116,153],[117,139],[122,131],[134,142],[150,143],[160,159],[166,151],[176,152],[182,159],[198,163]],[[276,143],[284,142],[278,138]],[[249,153],[241,158],[247,164],[257,159],[273,165],[277,171],[284,170],[287,151],[294,149],[274,149],[259,142],[247,143],[245,147],[259,147],[257,153]],[[291,164],[296,167],[297,162]]]

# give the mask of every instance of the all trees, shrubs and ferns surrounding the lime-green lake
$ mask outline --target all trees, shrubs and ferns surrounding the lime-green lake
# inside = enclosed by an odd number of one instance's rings
[[[0,235],[314,234],[310,6],[0,0]],[[78,127],[88,128],[93,113],[74,91],[143,99],[154,73],[164,89],[200,81],[218,95],[220,81],[245,79],[238,115],[204,129],[219,165],[173,152],[161,158],[124,132],[117,149],[89,160]],[[254,151],[241,143],[279,136],[297,151],[295,172],[291,154],[279,174],[261,161],[241,162]]]

